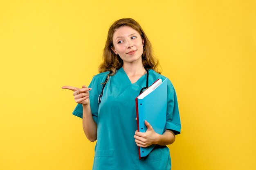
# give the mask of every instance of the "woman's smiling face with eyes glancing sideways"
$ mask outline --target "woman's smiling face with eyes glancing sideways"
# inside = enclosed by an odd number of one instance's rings
[[[130,26],[119,27],[113,35],[112,50],[126,63],[142,61],[144,39]]]

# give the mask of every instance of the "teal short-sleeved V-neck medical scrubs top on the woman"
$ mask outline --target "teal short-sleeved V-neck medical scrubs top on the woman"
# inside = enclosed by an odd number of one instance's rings
[[[123,68],[110,76],[103,90],[101,103],[98,103],[102,84],[109,72],[95,75],[88,87],[90,91],[90,107],[92,117],[97,123],[97,144],[93,170],[170,170],[171,158],[166,146],[156,147],[147,157],[139,160],[138,146],[135,143],[137,130],[135,98],[142,87],[146,86],[144,74],[136,83],[131,83]],[[154,70],[149,70],[148,84],[158,78],[166,77]],[[83,116],[83,107],[78,104],[73,115]],[[180,115],[175,89],[168,79],[166,129],[175,134],[180,133]]]

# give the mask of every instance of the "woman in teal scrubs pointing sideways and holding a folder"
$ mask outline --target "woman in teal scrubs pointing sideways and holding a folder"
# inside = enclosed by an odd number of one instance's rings
[[[97,140],[93,170],[171,169],[166,145],[175,141],[181,129],[171,81],[168,80],[165,132],[155,133],[146,121],[147,131],[138,132],[135,120],[135,98],[146,86],[147,74],[149,85],[158,78],[166,78],[154,71],[156,66],[151,44],[141,26],[131,18],[123,18],[108,31],[100,73],[92,78],[89,87],[62,87],[74,91],[78,105],[72,114],[83,118],[86,137],[92,142]],[[152,144],[156,144],[155,148],[139,160],[138,146]]]

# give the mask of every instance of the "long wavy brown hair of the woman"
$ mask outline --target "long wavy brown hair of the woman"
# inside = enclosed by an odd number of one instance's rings
[[[109,78],[109,76],[114,75],[116,71],[124,64],[123,60],[119,57],[119,55],[115,54],[111,49],[111,47],[113,47],[113,35],[115,31],[121,26],[130,26],[139,33],[141,39],[144,39],[143,54],[141,56],[144,68],[148,70],[152,69],[160,73],[157,69],[159,62],[153,55],[152,46],[150,41],[148,40],[148,37],[144,33],[139,23],[132,18],[122,18],[120,20],[117,20],[110,26],[108,30],[106,45],[103,50],[103,61],[99,65],[99,72],[101,73],[110,71],[110,73],[108,74]]]

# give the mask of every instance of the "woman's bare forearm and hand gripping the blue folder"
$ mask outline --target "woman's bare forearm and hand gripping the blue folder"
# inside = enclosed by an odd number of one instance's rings
[[[165,146],[175,141],[173,131],[166,129],[165,132],[160,135],[154,131],[153,127],[147,121],[145,121],[145,124],[148,128],[146,132],[135,132],[134,138],[137,146],[143,148],[153,144]]]

